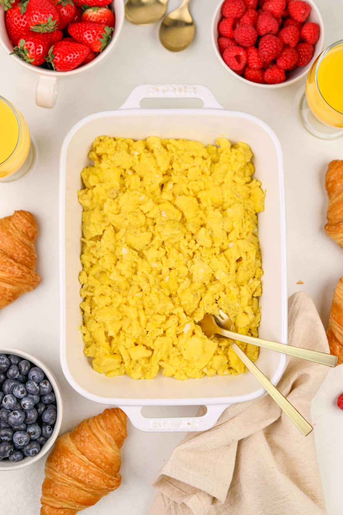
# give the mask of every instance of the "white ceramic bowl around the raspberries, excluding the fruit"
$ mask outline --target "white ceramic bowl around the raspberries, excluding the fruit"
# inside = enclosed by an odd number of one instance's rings
[[[233,75],[237,79],[241,80],[242,82],[245,82],[246,84],[258,86],[259,88],[269,88],[270,89],[270,88],[283,88],[284,86],[293,84],[294,82],[296,82],[297,80],[301,79],[302,77],[304,77],[305,75],[308,74],[313,61],[321,53],[323,46],[324,46],[324,23],[323,23],[323,19],[321,18],[321,14],[320,14],[317,6],[313,2],[313,0],[306,0],[306,2],[308,4],[310,4],[312,7],[309,19],[306,21],[317,23],[320,27],[320,36],[319,36],[319,40],[315,44],[313,58],[307,66],[301,66],[300,68],[296,68],[295,70],[288,72],[286,80],[284,82],[281,82],[280,84],[259,84],[258,82],[251,82],[250,80],[247,80],[244,77],[242,77],[241,75],[238,75],[237,73],[233,72],[233,70],[231,70],[231,68],[229,68],[229,66],[227,64],[225,64],[225,62],[222,58],[222,55],[219,51],[219,47],[218,47],[218,37],[219,37],[218,24],[219,24],[220,20],[222,19],[223,2],[224,2],[224,0],[221,0],[221,2],[219,3],[218,7],[215,9],[214,14],[213,14],[212,26],[211,26],[211,38],[212,38],[212,44],[213,44],[213,48],[214,48],[214,52],[215,52],[216,56],[218,57],[220,62],[223,64],[225,69],[231,75]]]

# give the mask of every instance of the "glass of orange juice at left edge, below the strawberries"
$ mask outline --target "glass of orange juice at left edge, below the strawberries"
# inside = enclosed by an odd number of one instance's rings
[[[0,182],[19,179],[32,161],[33,148],[25,118],[0,96]]]

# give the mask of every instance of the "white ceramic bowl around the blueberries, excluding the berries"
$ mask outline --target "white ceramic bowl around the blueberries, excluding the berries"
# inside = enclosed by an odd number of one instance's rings
[[[9,347],[0,347],[0,354],[16,354],[17,356],[20,356],[23,359],[27,359],[28,361],[33,363],[35,366],[40,367],[52,385],[53,391],[56,396],[56,404],[57,404],[57,419],[55,422],[55,427],[53,428],[53,433],[50,436],[50,438],[48,439],[48,441],[43,445],[41,451],[38,454],[36,454],[35,456],[26,456],[21,461],[12,462],[9,459],[4,459],[4,460],[0,461],[0,472],[3,472],[5,470],[17,470],[17,469],[22,469],[23,467],[27,467],[28,465],[31,465],[35,461],[38,461],[39,459],[41,459],[51,449],[51,447],[55,443],[55,440],[58,437],[58,434],[61,429],[62,399],[61,399],[60,389],[58,387],[56,379],[53,376],[51,370],[44,363],[42,363],[39,359],[37,359],[37,357],[31,356],[31,354],[27,354],[27,352],[19,351],[17,349],[11,349]]]

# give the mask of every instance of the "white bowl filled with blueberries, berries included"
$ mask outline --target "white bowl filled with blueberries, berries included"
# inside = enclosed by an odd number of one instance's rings
[[[61,421],[59,388],[46,365],[26,352],[0,348],[0,472],[44,456]]]

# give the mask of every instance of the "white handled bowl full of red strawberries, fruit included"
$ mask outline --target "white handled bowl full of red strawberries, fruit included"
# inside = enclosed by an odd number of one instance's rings
[[[16,62],[40,75],[39,106],[53,107],[58,78],[89,70],[118,40],[124,0],[84,2],[0,0],[0,43]]]

